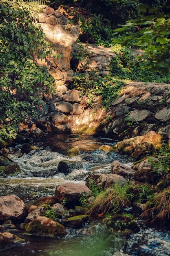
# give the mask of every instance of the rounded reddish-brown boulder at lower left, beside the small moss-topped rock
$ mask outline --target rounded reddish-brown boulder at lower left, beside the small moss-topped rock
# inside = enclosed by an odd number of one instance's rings
[[[62,237],[66,235],[66,229],[60,223],[47,217],[37,217],[25,226],[26,232],[38,236]]]

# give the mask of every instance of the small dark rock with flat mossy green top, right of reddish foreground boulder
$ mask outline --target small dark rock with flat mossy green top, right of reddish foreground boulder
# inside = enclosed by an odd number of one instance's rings
[[[79,228],[82,227],[84,222],[88,221],[88,215],[78,215],[66,219],[62,219],[62,224],[68,227]]]

